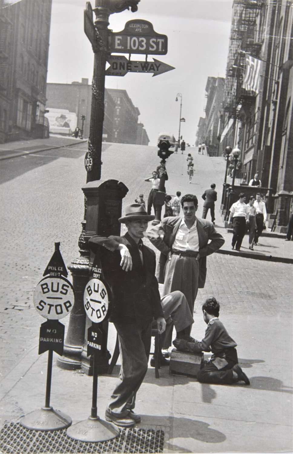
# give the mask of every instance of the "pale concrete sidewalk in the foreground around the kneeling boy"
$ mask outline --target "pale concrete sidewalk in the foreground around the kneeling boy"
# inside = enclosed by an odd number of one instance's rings
[[[254,316],[225,316],[228,331],[237,333],[239,363],[251,381],[250,386],[200,384],[193,378],[169,375],[168,367],[161,368],[160,378],[156,379],[154,369],[149,367],[137,395],[136,412],[142,415],[137,427],[163,429],[165,453],[291,451],[292,388],[288,364],[291,360],[289,351],[286,358],[280,353],[290,345],[290,335],[288,332],[280,337],[280,326],[270,316],[263,322],[266,331],[256,331]],[[197,336],[204,335],[201,315],[195,316],[194,326]],[[271,338],[279,338],[279,342],[268,341],[267,332]],[[114,326],[110,324],[111,351],[115,337]],[[268,348],[252,350],[248,339],[253,339],[255,345],[265,343]],[[2,381],[1,404],[6,420],[17,421],[45,403],[48,356],[47,353],[38,356],[37,351],[36,344]],[[287,371],[282,367],[284,361]],[[101,419],[118,373],[117,365],[113,375],[99,376]],[[282,380],[276,376],[282,376]],[[69,415],[73,424],[87,419],[91,396],[92,377],[80,371],[59,369],[54,361],[50,403],[55,410]]]

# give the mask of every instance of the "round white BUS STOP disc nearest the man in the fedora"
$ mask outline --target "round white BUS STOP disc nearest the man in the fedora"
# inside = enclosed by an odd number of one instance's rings
[[[99,279],[91,279],[84,290],[84,309],[89,320],[99,323],[108,312],[109,297],[104,283]]]

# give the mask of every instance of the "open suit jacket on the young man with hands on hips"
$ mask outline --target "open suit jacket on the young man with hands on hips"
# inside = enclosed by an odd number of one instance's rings
[[[214,224],[206,219],[197,219],[197,231],[199,235],[199,288],[203,288],[207,274],[206,257],[216,252],[223,246],[225,240],[216,232]],[[161,251],[157,269],[157,278],[160,284],[164,283],[164,267],[167,255],[172,251],[176,233],[180,227],[182,216],[165,217],[161,224],[153,227],[149,232],[149,241]],[[163,238],[160,235],[164,235]],[[154,236],[153,236],[154,235]],[[209,243],[209,240],[211,242]]]

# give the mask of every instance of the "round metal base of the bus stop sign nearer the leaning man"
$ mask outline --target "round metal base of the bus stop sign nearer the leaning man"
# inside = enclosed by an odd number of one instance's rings
[[[88,419],[79,421],[67,429],[67,435],[75,440],[95,443],[117,437],[119,429],[114,424],[99,419],[99,416],[96,418],[89,416]]]

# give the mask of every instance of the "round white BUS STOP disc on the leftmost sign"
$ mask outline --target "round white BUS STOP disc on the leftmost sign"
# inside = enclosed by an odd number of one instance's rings
[[[42,317],[60,320],[69,314],[73,304],[73,287],[64,277],[48,276],[36,286],[34,306]]]

